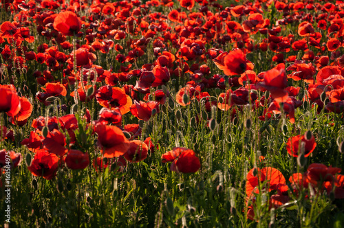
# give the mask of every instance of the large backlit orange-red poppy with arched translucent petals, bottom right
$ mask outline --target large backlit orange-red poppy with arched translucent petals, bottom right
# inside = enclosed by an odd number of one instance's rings
[[[255,174],[256,172],[256,174]],[[269,192],[277,190],[280,185],[286,185],[286,179],[281,171],[272,168],[252,168],[246,176],[246,195],[251,196],[252,193],[259,193],[258,185],[266,182]],[[265,188],[265,187],[264,187]]]

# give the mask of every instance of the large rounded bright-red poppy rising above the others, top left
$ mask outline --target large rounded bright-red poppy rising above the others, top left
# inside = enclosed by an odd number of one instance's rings
[[[72,11],[60,12],[54,19],[54,29],[65,36],[73,36],[81,29],[80,18]]]

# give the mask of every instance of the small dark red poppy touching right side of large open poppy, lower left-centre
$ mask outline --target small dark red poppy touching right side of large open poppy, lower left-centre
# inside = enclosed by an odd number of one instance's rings
[[[131,163],[139,162],[147,158],[148,146],[143,141],[132,140],[130,141],[130,147],[123,155],[127,161]]]

